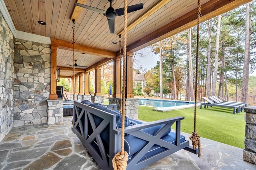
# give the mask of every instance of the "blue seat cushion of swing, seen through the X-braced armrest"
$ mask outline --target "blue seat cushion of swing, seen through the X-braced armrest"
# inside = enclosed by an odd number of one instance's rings
[[[134,121],[138,124],[142,124],[142,122],[140,121],[136,121],[136,120],[132,120],[129,119],[129,121]],[[159,129],[161,129],[163,125],[157,125],[154,127],[148,127],[146,129],[142,129],[141,131],[146,132],[150,135],[154,135]],[[171,132],[171,128],[169,128],[164,135],[162,136],[162,138],[164,141],[167,141],[168,143],[175,143],[175,133]],[[183,135],[180,135],[180,142],[184,142],[185,141],[185,137]],[[139,139],[137,137],[134,137],[132,135],[126,135],[124,137],[124,150],[126,150],[126,152],[128,152],[128,158],[131,158],[134,154],[136,154],[136,152],[138,152],[145,144],[147,143],[147,141],[144,141],[142,139]],[[163,150],[165,150],[166,148],[164,147],[160,147],[159,145],[154,145],[145,155],[144,158],[152,156],[158,152],[161,152]]]

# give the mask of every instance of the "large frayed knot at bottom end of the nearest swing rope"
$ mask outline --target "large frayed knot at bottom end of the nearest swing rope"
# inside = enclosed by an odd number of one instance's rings
[[[126,170],[128,161],[128,153],[124,151],[124,154],[118,152],[112,159],[114,170]]]

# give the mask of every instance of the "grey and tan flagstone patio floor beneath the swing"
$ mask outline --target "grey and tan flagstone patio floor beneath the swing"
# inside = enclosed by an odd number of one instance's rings
[[[71,131],[71,117],[58,125],[14,127],[0,142],[0,170],[99,170]],[[182,133],[187,139],[190,134]],[[26,142],[26,143],[24,143]],[[144,170],[256,169],[242,160],[240,148],[201,138],[202,157],[180,150]]]

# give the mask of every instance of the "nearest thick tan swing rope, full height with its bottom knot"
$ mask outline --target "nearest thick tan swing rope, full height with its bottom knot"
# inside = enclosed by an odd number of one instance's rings
[[[121,152],[115,154],[112,163],[114,170],[126,170],[128,153],[124,150],[124,119],[125,119],[125,84],[126,84],[126,45],[127,45],[127,0],[124,0],[124,63],[123,63],[123,94],[122,94],[122,135]]]

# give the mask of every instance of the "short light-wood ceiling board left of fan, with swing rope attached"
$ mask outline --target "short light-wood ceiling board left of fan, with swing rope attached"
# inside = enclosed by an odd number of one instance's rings
[[[66,12],[68,11],[68,6],[70,5],[69,2],[70,2],[69,0],[62,1],[62,5],[60,6],[60,13],[59,13],[56,31],[55,31],[55,35],[54,35],[54,37],[57,39],[60,35],[60,31],[62,29],[64,18],[66,16]]]

